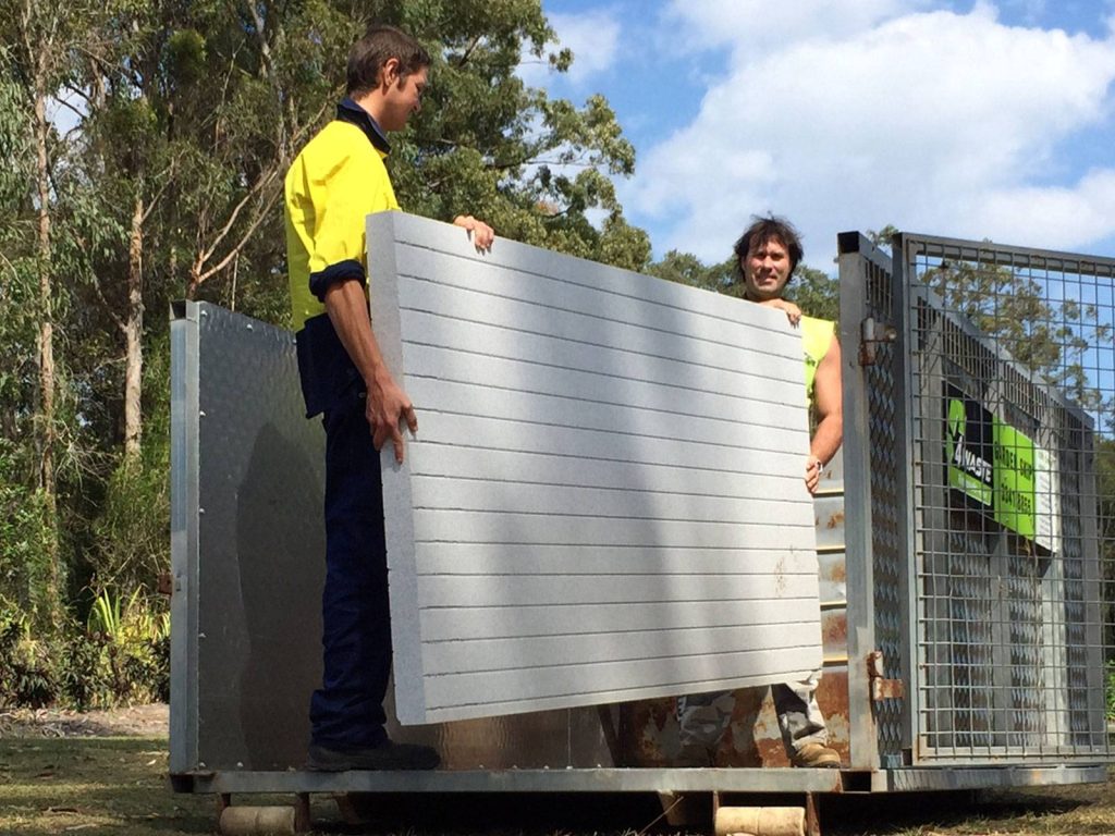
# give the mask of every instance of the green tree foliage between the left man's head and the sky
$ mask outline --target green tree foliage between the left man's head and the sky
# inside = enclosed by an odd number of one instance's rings
[[[627,223],[611,179],[633,173],[634,148],[607,99],[550,99],[515,75],[524,50],[542,57],[554,37],[536,1],[377,6],[434,58],[423,109],[388,158],[407,211],[472,214],[504,237],[646,269],[649,239]],[[571,56],[549,60],[564,68]]]

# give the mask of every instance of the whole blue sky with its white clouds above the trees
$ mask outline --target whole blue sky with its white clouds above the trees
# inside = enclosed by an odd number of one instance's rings
[[[1115,0],[543,0],[561,76],[636,146],[619,184],[656,256],[719,261],[774,212],[1115,256]]]

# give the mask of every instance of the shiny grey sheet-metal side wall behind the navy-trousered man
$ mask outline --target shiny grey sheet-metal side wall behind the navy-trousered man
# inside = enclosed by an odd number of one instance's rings
[[[323,436],[289,331],[176,313],[172,770],[284,768],[321,675]]]

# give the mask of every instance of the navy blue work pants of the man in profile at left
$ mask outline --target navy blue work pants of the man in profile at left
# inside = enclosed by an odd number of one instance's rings
[[[365,398],[355,392],[326,411],[326,587],[323,670],[310,700],[313,742],[378,746],[391,669],[387,544],[379,453]]]

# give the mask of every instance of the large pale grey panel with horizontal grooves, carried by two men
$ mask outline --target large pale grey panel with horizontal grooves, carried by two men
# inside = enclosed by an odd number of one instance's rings
[[[401,213],[372,320],[396,710],[425,723],[804,677],[821,661],[798,332],[779,311]]]

